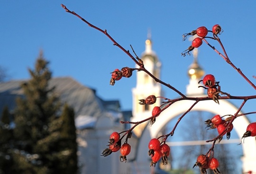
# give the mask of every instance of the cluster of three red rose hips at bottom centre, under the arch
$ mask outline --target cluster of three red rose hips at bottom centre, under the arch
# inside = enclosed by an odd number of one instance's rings
[[[148,143],[148,155],[151,156],[150,166],[154,166],[157,161],[162,158],[163,165],[168,165],[168,156],[170,155],[170,147],[165,144],[165,142],[161,145],[160,141],[156,138],[153,138]]]

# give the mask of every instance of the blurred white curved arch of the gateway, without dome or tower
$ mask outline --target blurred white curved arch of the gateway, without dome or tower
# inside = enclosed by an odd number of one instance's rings
[[[141,136],[141,140],[138,144],[138,154],[137,160],[143,164],[143,159],[145,160],[145,149],[147,150],[147,144],[151,138],[155,138],[157,133],[168,123],[171,119],[187,111],[188,108],[192,106],[194,101],[183,100],[178,101],[171,105],[169,108],[165,109],[160,116],[156,118],[156,122],[152,126],[147,126],[145,134]],[[192,108],[192,111],[208,111],[213,114],[233,115],[237,112],[238,108],[232,105],[227,100],[219,100],[219,105],[212,100],[201,101]],[[241,114],[241,112],[239,112]],[[233,122],[234,129],[238,133],[239,137],[242,137],[246,132],[247,125],[249,121],[246,116],[240,116],[236,118]],[[150,136],[149,136],[150,135]],[[175,136],[175,133],[174,133]],[[256,172],[256,140],[255,137],[248,137],[245,139],[245,143],[242,143],[242,149],[244,156],[241,158],[243,162],[243,171],[252,170]],[[145,147],[146,146],[146,147]],[[146,159],[148,163],[148,159]],[[144,167],[145,168],[145,167]],[[144,169],[145,170],[145,169]]]

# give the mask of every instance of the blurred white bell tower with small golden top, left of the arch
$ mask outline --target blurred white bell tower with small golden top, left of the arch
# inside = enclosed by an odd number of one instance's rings
[[[141,55],[141,59],[144,62],[145,68],[153,74],[156,78],[160,78],[160,68],[161,63],[158,60],[155,52],[152,50],[152,41],[150,35],[146,40],[146,49]],[[136,65],[138,68],[138,66]],[[131,121],[140,121],[151,116],[152,109],[155,106],[161,105],[161,98],[157,98],[155,104],[153,105],[140,105],[139,99],[146,99],[150,95],[155,95],[156,97],[162,96],[161,85],[156,83],[153,78],[147,75],[143,71],[137,72],[137,85],[132,89],[133,96],[133,117]],[[146,123],[147,124],[147,123]],[[145,128],[146,124],[139,125],[134,130],[137,136],[140,136],[141,131]]]

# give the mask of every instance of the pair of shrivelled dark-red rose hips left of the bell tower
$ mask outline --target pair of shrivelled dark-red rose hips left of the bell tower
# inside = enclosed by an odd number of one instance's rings
[[[127,77],[129,78],[132,76],[132,71],[134,69],[129,68],[129,67],[123,67],[121,70],[115,69],[111,74],[111,79],[110,79],[110,85],[114,85],[117,80],[120,80],[122,77]]]

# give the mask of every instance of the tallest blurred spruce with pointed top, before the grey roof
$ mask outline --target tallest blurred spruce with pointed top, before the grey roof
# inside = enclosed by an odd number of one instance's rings
[[[59,141],[64,121],[58,116],[61,104],[55,88],[49,87],[52,73],[42,51],[35,70],[29,69],[29,73],[31,79],[22,84],[25,97],[17,99],[15,111],[16,173],[57,174],[56,169],[63,162]],[[74,126],[73,122],[71,124]],[[66,155],[67,158],[70,156]],[[76,174],[76,170],[70,174]]]

